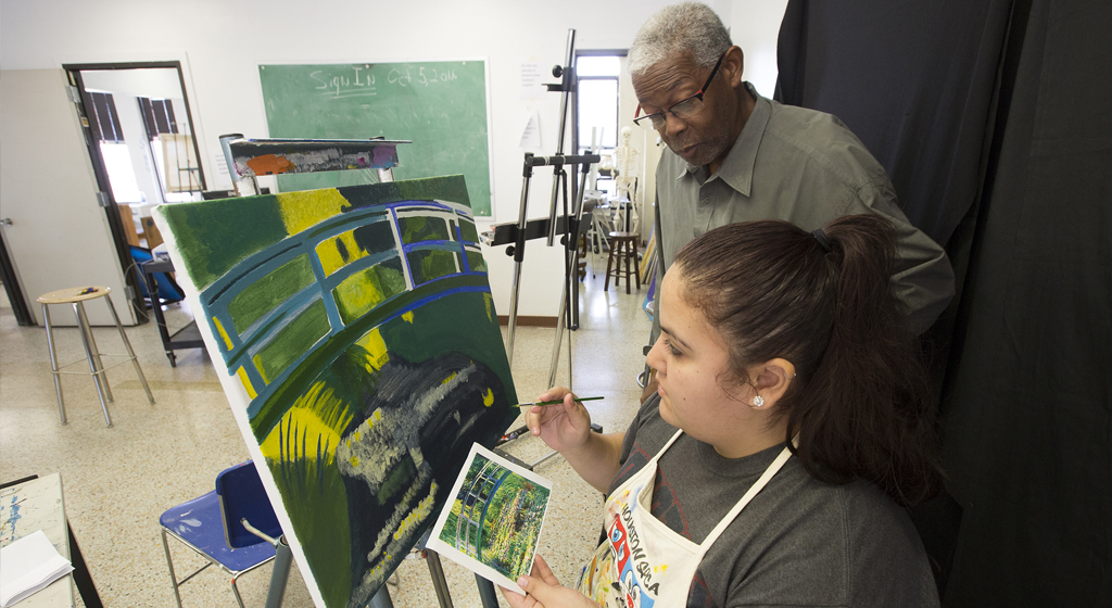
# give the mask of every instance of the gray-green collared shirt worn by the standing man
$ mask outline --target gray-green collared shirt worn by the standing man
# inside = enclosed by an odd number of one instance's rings
[[[907,221],[884,168],[837,118],[781,104],[745,86],[755,100],[753,113],[714,175],[669,149],[661,156],[661,268],[719,226],[776,219],[811,231],[843,216],[876,213],[896,228],[895,295],[907,307],[912,330],[926,331],[954,295],[953,268],[942,247]],[[654,322],[654,338],[658,327]]]

